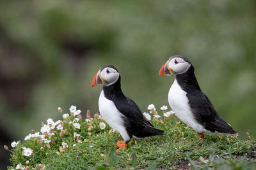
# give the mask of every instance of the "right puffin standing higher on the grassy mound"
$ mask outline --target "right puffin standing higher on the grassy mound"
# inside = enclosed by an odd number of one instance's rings
[[[199,139],[204,138],[205,133],[236,134],[202,92],[194,71],[191,62],[183,55],[170,57],[159,71],[159,76],[176,76],[168,93],[168,103],[175,115],[195,129]]]

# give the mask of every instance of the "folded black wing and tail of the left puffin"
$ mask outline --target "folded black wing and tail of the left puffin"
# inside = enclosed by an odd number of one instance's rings
[[[138,138],[144,138],[153,135],[163,135],[162,130],[152,125],[141,113],[140,108],[134,101],[128,97],[113,100],[116,108],[124,115],[125,127]]]

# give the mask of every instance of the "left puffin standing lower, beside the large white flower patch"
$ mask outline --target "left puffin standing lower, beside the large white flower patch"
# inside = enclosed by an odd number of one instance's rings
[[[92,81],[92,87],[97,85],[103,85],[99,97],[101,117],[124,139],[116,142],[119,148],[127,148],[133,138],[163,135],[164,131],[154,127],[143,116],[137,104],[124,95],[121,90],[121,76],[116,67],[100,67]],[[116,150],[118,151],[119,149]]]

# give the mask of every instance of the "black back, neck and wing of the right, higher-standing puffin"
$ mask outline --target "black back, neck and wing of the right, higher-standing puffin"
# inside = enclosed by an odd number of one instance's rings
[[[200,89],[194,71],[195,69],[191,65],[186,73],[177,74],[176,80],[182,90],[187,92],[190,109],[196,121],[211,132],[235,134],[236,131],[220,118],[210,99]]]

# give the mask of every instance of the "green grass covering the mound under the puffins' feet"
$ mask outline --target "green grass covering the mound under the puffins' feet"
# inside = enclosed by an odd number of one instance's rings
[[[74,129],[68,124],[74,120],[74,116],[68,117],[63,124],[63,130],[67,133],[60,137],[60,130],[54,129],[49,145],[40,143],[40,139],[31,138],[19,144],[12,152],[12,165],[15,168],[21,163],[23,166],[38,167],[38,169],[139,169],[148,167],[164,169],[175,167],[193,167],[194,169],[205,169],[214,167],[241,167],[242,169],[253,169],[256,159],[246,157],[256,147],[255,140],[250,134],[248,140],[236,138],[236,136],[212,136],[205,134],[205,138],[197,138],[193,129],[179,122],[176,117],[169,120],[151,120],[159,129],[163,129],[164,136],[153,136],[148,139],[135,139],[129,144],[129,148],[115,153],[118,132],[110,132],[111,128],[106,125],[100,129],[99,123],[103,122],[97,118],[90,124],[82,122],[80,129]],[[163,118],[163,117],[161,117]],[[160,119],[161,119],[160,118]],[[159,120],[160,120],[159,119]],[[93,127],[92,130],[88,127]],[[81,134],[74,138],[74,133]],[[90,134],[91,133],[91,134]],[[48,137],[49,138],[49,137]],[[67,143],[68,148],[61,143]],[[76,144],[76,146],[73,146]],[[31,148],[33,154],[29,157],[22,154],[22,147]],[[29,163],[26,164],[26,161]],[[179,162],[177,164],[177,162]],[[42,165],[40,165],[42,164]],[[189,165],[188,165],[189,164]],[[8,167],[12,169],[12,167]]]

